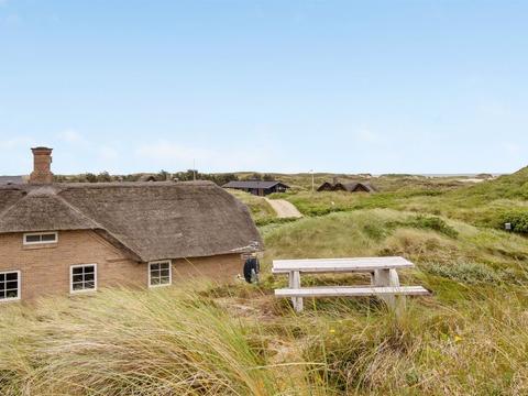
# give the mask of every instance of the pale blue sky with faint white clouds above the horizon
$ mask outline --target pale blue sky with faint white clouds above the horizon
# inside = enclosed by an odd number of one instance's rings
[[[0,0],[0,174],[514,172],[528,1]]]

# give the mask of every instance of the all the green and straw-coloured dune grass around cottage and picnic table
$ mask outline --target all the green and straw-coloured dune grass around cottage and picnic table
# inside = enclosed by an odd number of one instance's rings
[[[274,218],[234,193],[260,224],[258,286],[105,290],[2,307],[2,395],[528,394],[526,169],[465,185],[387,175],[375,195],[280,195],[305,213]],[[382,186],[382,187],[380,187]],[[514,231],[505,232],[504,222]],[[376,299],[307,299],[295,314],[273,258],[403,255],[405,284],[431,289],[394,317]],[[358,276],[306,276],[306,284]]]

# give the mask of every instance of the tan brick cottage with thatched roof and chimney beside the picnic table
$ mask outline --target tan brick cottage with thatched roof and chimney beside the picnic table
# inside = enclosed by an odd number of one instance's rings
[[[0,301],[231,278],[261,243],[212,183],[54,184],[51,152],[33,148],[28,184],[0,186]]]

